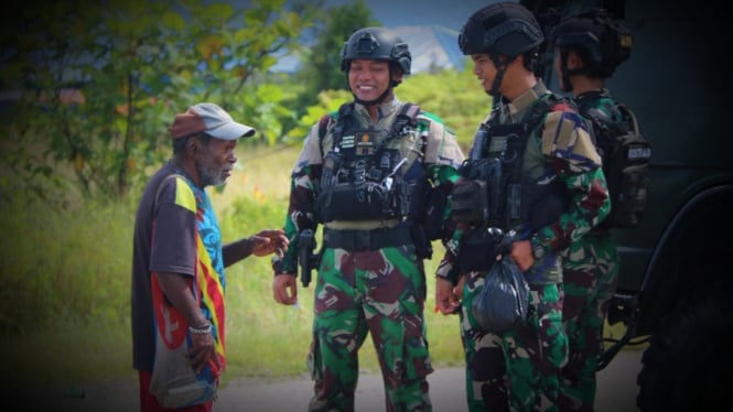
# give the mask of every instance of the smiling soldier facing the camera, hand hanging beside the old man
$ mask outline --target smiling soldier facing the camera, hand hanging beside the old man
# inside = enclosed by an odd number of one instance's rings
[[[298,234],[323,224],[310,411],[354,410],[367,333],[386,410],[432,410],[422,259],[430,257],[430,239],[450,237],[438,210],[464,156],[440,119],[395,96],[410,64],[408,45],[387,29],[354,32],[342,52],[354,101],[313,126],[292,172],[284,229],[294,246],[273,264],[273,294],[279,303],[297,303]]]

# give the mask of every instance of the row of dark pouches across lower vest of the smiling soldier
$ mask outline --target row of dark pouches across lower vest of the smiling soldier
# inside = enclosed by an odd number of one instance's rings
[[[402,210],[407,202],[399,202],[399,193],[405,191],[401,182],[395,182],[392,189],[370,181],[359,186],[338,183],[319,194],[316,208],[323,221],[391,219],[407,213]]]

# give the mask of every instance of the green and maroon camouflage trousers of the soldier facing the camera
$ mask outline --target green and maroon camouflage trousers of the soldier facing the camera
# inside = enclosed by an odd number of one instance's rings
[[[309,411],[353,411],[367,333],[385,382],[386,411],[432,411],[433,371],[423,317],[425,277],[412,246],[325,249],[315,285]]]

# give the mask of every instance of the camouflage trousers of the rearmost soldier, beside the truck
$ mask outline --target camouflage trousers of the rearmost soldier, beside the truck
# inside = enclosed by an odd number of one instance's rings
[[[603,324],[618,281],[618,254],[610,232],[591,232],[563,256],[563,323],[569,339],[562,369],[563,411],[593,411]]]

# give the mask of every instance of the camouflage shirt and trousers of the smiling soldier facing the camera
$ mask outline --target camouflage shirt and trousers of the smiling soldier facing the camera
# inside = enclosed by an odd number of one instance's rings
[[[355,105],[354,120],[374,130],[391,127],[401,102],[382,104],[375,123],[362,105]],[[298,234],[316,229],[315,214],[323,156],[333,144],[332,128],[337,112],[331,113],[327,132],[321,139],[314,124],[291,175],[290,204],[284,230],[291,243],[284,258],[273,262],[276,273],[298,272]],[[455,134],[434,115],[422,111],[414,130],[389,142],[407,155],[403,175],[424,176],[448,198],[457,180],[463,153]],[[424,148],[420,145],[424,142]],[[422,153],[423,155],[419,155]],[[416,173],[424,171],[424,173]],[[330,230],[369,230],[382,220],[331,221]],[[407,221],[405,224],[410,224]],[[446,235],[452,227],[446,223]],[[319,242],[323,243],[323,242]],[[425,377],[432,372],[425,323],[425,277],[413,245],[379,250],[347,251],[325,248],[315,281],[313,340],[308,365],[314,380],[309,411],[353,411],[358,368],[358,350],[367,334],[379,359],[385,381],[387,411],[431,411]]]

